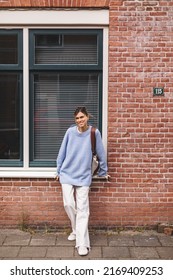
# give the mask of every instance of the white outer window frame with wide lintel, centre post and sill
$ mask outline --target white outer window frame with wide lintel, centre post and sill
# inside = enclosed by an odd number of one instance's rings
[[[103,30],[102,139],[107,151],[109,11],[1,10],[0,18],[0,28],[23,29],[23,167],[0,167],[0,177],[54,178],[56,174],[55,167],[29,167],[29,30],[32,28]]]

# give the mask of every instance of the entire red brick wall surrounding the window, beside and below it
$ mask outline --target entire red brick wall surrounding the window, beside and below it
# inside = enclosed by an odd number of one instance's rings
[[[108,164],[91,226],[173,222],[173,1],[0,1],[0,7],[108,7]],[[153,87],[164,96],[153,97]],[[0,226],[68,224],[54,180],[0,179]]]

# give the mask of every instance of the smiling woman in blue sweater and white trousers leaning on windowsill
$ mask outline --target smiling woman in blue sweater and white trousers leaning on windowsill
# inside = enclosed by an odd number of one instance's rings
[[[59,150],[56,179],[62,185],[64,208],[71,221],[72,232],[68,240],[76,240],[78,254],[84,256],[90,249],[88,194],[92,182],[91,126],[88,125],[89,114],[85,107],[78,107],[74,117],[76,125],[67,129]],[[95,136],[99,157],[98,176],[106,176],[105,152],[98,129]]]

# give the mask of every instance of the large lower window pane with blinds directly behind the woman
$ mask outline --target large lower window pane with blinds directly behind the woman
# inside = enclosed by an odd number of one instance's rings
[[[86,106],[91,123],[98,127],[98,80],[98,74],[34,75],[34,160],[55,161],[77,106]]]

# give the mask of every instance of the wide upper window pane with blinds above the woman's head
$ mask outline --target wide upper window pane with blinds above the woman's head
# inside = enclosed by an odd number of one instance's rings
[[[98,63],[97,35],[35,36],[35,64]]]

